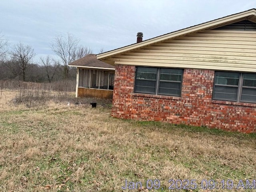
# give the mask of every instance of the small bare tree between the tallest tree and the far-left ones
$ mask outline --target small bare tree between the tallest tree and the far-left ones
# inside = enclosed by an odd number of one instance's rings
[[[60,64],[53,60],[49,55],[45,58],[40,58],[41,60],[41,66],[44,69],[47,79],[50,82],[52,82],[52,79],[54,78],[58,68],[60,67]]]

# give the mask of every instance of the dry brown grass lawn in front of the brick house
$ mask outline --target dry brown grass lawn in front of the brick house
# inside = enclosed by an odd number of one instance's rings
[[[256,189],[255,134],[115,119],[109,101],[89,108],[89,99],[74,100],[74,94],[37,106],[14,104],[14,91],[0,95],[0,191],[149,191],[151,180],[150,191]],[[170,179],[212,180],[216,187],[247,180],[252,189],[168,190]],[[143,187],[123,190],[125,180]]]

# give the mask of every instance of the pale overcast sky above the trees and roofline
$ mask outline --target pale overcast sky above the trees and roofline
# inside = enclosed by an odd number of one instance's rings
[[[0,0],[0,32],[10,46],[34,48],[35,61],[67,32],[95,54],[256,8],[256,0]]]

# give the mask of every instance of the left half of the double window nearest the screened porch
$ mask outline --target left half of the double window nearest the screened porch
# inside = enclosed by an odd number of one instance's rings
[[[156,94],[157,68],[137,67],[134,92]]]

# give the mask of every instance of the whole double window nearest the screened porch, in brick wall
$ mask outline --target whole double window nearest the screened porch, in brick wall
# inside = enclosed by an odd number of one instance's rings
[[[182,69],[137,67],[136,93],[180,96]]]

